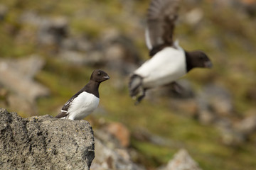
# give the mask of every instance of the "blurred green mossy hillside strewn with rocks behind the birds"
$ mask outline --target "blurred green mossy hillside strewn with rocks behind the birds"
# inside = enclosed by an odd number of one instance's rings
[[[149,0],[0,0],[0,107],[23,118],[57,115],[94,69],[111,79],[85,118],[97,135],[114,125],[146,169],[185,148],[202,169],[256,167],[256,1],[183,0],[174,38],[203,50],[213,69],[193,69],[148,91],[138,106],[129,74],[149,59]],[[117,128],[116,128],[117,129]]]

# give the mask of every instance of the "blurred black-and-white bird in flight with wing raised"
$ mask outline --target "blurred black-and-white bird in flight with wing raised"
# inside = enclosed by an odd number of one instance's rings
[[[171,84],[193,68],[212,67],[204,52],[188,52],[174,42],[177,12],[178,0],[152,0],[149,5],[145,38],[151,58],[129,78],[129,94],[137,103],[147,89]]]

